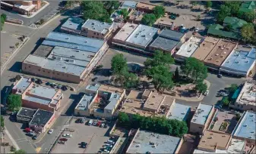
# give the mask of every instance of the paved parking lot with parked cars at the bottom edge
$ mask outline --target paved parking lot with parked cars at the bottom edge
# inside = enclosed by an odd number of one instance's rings
[[[58,143],[52,153],[96,153],[109,140],[109,126],[100,128],[88,125],[89,119],[86,119],[84,123],[76,123],[76,120],[72,119],[68,126],[68,129],[74,132],[63,133],[71,134],[71,137],[66,137],[68,140],[65,144]],[[81,142],[87,143],[87,148],[82,148]]]

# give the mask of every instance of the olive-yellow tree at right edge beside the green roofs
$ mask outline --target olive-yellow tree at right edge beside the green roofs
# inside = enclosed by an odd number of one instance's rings
[[[246,42],[254,42],[256,40],[254,25],[248,23],[242,26],[241,35]]]

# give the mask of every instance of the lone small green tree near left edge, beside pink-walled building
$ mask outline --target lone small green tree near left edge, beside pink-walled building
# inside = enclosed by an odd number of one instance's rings
[[[18,94],[9,94],[8,95],[8,110],[16,111],[21,108],[21,95]]]

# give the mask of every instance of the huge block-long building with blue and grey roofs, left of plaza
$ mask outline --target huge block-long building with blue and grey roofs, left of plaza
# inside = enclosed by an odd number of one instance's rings
[[[49,46],[46,57],[30,54],[22,71],[49,79],[80,83],[108,48],[106,42],[65,33],[50,32],[42,45]]]

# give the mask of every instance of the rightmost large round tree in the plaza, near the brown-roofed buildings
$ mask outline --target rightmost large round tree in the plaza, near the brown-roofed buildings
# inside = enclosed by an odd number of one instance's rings
[[[207,78],[207,67],[204,63],[194,57],[188,57],[181,66],[182,72],[190,76],[194,81],[203,81]]]

